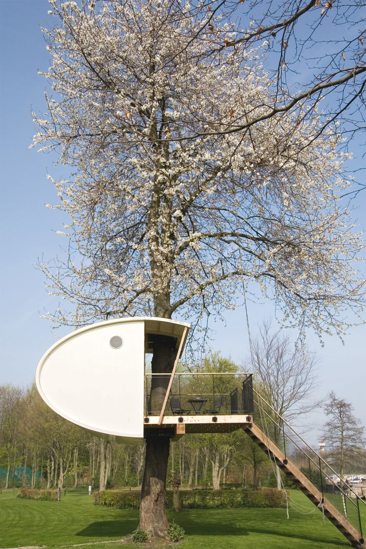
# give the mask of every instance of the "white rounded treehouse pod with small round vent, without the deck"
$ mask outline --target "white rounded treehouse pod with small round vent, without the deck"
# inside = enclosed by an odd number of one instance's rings
[[[77,329],[44,353],[37,389],[52,410],[95,435],[143,442],[148,334],[177,338],[178,348],[188,327],[165,318],[132,317]]]

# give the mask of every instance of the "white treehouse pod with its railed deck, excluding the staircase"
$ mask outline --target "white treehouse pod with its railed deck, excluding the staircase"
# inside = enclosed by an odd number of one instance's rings
[[[37,389],[60,416],[97,436],[229,432],[252,422],[250,373],[178,373],[189,324],[133,317],[98,322],[42,356]],[[153,371],[146,355],[153,354]],[[170,360],[166,360],[166,356]]]

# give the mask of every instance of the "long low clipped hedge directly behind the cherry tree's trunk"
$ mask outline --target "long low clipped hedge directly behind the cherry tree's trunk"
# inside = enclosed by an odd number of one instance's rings
[[[138,509],[140,492],[105,490],[93,492],[94,505]],[[183,509],[229,509],[232,507],[280,507],[286,502],[284,490],[179,490]],[[173,492],[166,492],[166,507],[173,507]]]

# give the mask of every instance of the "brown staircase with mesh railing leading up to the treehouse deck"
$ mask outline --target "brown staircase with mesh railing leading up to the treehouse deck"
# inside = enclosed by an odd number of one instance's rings
[[[360,505],[365,505],[363,500],[255,390],[254,419],[256,423],[243,427],[245,433],[319,507],[352,547],[366,549],[359,512]]]

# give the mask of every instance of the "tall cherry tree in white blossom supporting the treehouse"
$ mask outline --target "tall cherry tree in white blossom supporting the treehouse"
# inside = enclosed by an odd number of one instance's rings
[[[342,313],[360,312],[364,295],[353,262],[361,239],[340,200],[348,155],[313,108],[268,116],[278,82],[263,69],[267,41],[213,47],[236,34],[218,12],[214,27],[205,4],[50,5],[42,74],[53,91],[35,114],[35,144],[58,150],[73,173],[54,181],[59,203],[49,206],[70,223],[66,256],[41,262],[63,299],[46,316],[200,322],[256,281],[286,323],[341,334]],[[171,369],[168,355],[156,342],[153,373]],[[168,440],[147,440],[140,525],[152,537],[166,536],[168,453]]]

